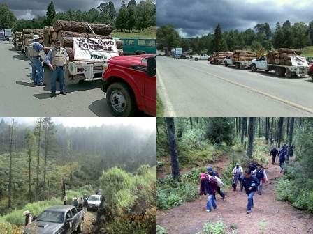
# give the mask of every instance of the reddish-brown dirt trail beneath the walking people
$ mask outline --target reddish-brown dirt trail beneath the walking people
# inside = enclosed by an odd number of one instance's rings
[[[157,212],[157,224],[168,230],[168,234],[193,234],[201,231],[208,219],[217,221],[219,215],[228,227],[237,224],[238,234],[261,233],[259,223],[266,222],[265,233],[313,233],[313,217],[305,211],[293,208],[289,203],[275,201],[275,180],[282,176],[277,164],[266,169],[268,182],[263,185],[261,196],[254,195],[254,208],[246,214],[247,195],[229,191],[226,199],[217,194],[217,210],[205,212],[206,197],[184,203],[177,208]],[[239,185],[239,183],[238,183]],[[238,186],[239,187],[239,186]],[[230,231],[231,229],[228,229]]]

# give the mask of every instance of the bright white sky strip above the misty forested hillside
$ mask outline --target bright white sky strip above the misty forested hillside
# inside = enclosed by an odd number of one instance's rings
[[[1,118],[0,118],[1,119]],[[12,118],[4,117],[6,122]],[[17,123],[35,123],[37,118],[32,117],[15,117]],[[155,130],[157,126],[157,118],[140,117],[140,118],[115,118],[115,117],[52,117],[54,123],[61,123],[68,127],[91,127],[101,125],[131,125],[142,128],[143,130]]]

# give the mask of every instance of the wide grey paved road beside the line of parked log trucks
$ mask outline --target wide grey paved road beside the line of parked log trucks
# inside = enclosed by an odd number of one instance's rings
[[[165,56],[157,63],[164,116],[313,116],[309,77],[285,79]]]

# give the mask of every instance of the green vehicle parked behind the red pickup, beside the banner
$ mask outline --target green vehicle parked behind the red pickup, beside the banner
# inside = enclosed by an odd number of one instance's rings
[[[157,39],[155,38],[121,38],[124,55],[157,54]]]

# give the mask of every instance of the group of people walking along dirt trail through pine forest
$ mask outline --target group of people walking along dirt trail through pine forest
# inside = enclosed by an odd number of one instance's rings
[[[290,156],[293,156],[293,151],[295,146],[290,148]],[[286,160],[287,146],[284,144],[280,150],[276,148],[275,145],[272,145],[270,149],[270,155],[272,155],[272,164],[275,164],[275,159],[278,155],[280,172],[284,169],[284,162]],[[268,176],[266,175],[265,169],[261,164],[257,164],[254,160],[250,162],[247,166],[247,169],[243,171],[239,163],[237,163],[232,171],[233,173],[233,191],[237,190],[238,182],[240,182],[240,194],[243,189],[247,194],[247,214],[252,212],[254,208],[253,197],[256,192],[259,195],[262,194],[263,184],[268,181]],[[200,176],[200,189],[199,194],[206,196],[208,194],[208,201],[206,204],[206,211],[211,212],[214,209],[217,209],[216,193],[218,193],[221,198],[226,198],[224,192],[221,191],[221,186],[223,182],[217,171],[214,171],[211,166],[208,166],[206,173],[201,173]]]

